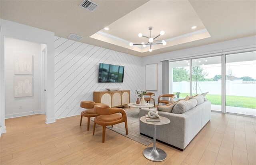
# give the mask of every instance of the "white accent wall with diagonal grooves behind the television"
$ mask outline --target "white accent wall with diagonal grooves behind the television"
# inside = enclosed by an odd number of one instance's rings
[[[98,83],[99,63],[124,66],[123,83]],[[142,90],[142,58],[65,38],[55,41],[55,117],[79,115],[82,100],[93,100],[93,91],[130,90],[131,102]],[[67,108],[68,106],[68,108]]]

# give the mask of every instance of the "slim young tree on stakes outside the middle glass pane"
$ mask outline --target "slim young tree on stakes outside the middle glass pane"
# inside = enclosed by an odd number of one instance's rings
[[[203,72],[203,70],[204,69],[200,66],[192,67],[192,80],[195,81],[194,85],[196,85],[196,94],[197,94],[197,85],[199,87],[198,82],[205,81],[206,79],[204,78],[204,76],[208,75],[208,73]],[[199,87],[199,89],[200,89],[200,87]]]

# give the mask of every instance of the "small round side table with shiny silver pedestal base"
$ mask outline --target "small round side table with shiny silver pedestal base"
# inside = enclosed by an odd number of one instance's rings
[[[151,161],[163,161],[167,156],[164,150],[156,148],[156,125],[168,124],[170,123],[170,119],[162,116],[160,116],[160,119],[161,121],[146,121],[145,116],[140,117],[140,121],[143,123],[152,124],[154,126],[153,147],[148,147],[143,151],[144,157]]]

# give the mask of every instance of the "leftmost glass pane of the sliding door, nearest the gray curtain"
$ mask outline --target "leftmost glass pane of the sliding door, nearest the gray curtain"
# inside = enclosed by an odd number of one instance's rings
[[[180,98],[190,95],[190,60],[170,62],[170,93],[180,93]]]

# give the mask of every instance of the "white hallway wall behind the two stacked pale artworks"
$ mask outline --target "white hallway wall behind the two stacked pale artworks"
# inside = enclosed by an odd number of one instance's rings
[[[12,38],[4,39],[5,118],[41,113],[41,44]],[[33,96],[14,97],[14,54],[33,56]],[[22,105],[22,109],[20,109]]]

